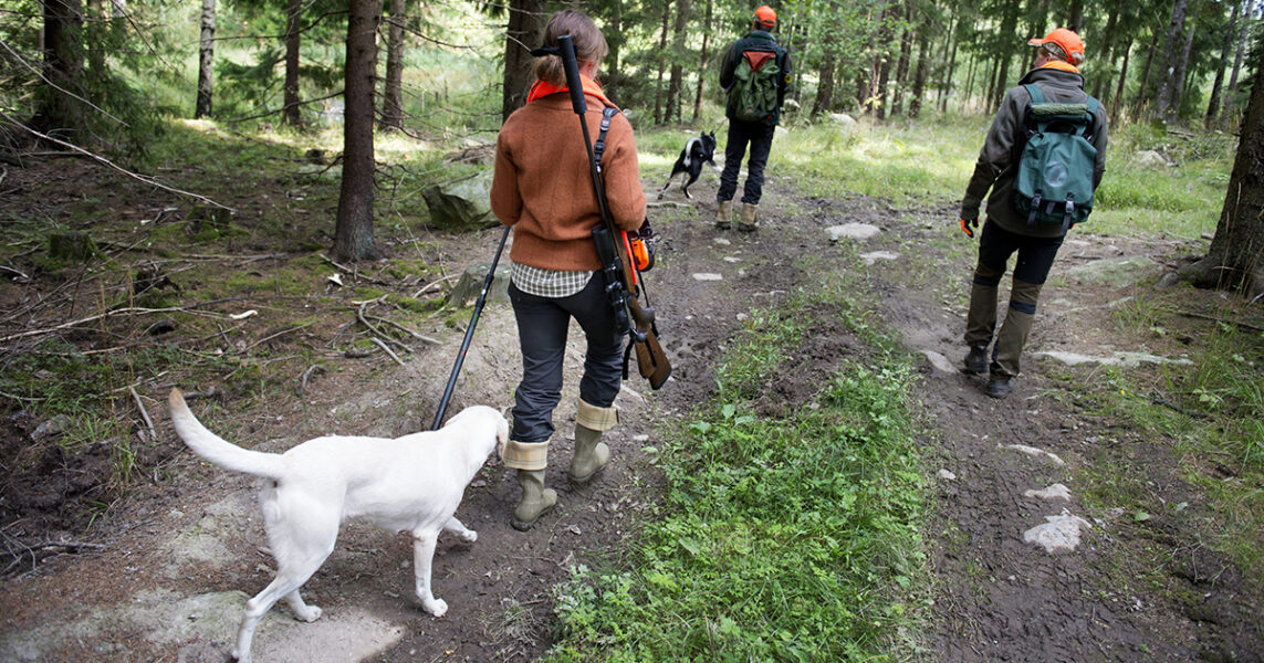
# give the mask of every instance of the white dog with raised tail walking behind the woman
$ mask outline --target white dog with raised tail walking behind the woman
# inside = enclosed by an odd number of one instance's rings
[[[284,453],[231,445],[206,429],[178,389],[168,398],[176,433],[195,453],[226,470],[268,479],[259,495],[263,520],[277,559],[277,580],[245,604],[234,658],[250,660],[250,639],[263,615],[284,599],[298,619],[315,621],[298,588],[334,552],[343,520],[362,518],[382,528],[411,532],[417,597],[435,616],[447,604],[430,590],[430,567],[440,530],[473,542],[478,534],[453,517],[492,451],[503,452],[509,423],[493,408],[474,405],[439,431],[396,439],[317,437]]]

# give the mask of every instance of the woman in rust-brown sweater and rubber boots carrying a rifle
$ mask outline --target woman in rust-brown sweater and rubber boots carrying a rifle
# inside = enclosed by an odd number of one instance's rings
[[[573,10],[552,15],[545,45],[556,47],[564,34],[575,44],[588,100],[584,120],[589,134],[597,136],[602,111],[614,106],[595,81],[597,66],[608,51],[605,38],[592,19]],[[518,529],[528,529],[557,503],[557,494],[545,487],[545,469],[555,431],[552,410],[561,399],[570,318],[579,322],[588,341],[575,455],[568,472],[571,481],[586,482],[611,458],[600,437],[618,422],[613,403],[623,376],[623,337],[614,326],[592,235],[602,217],[561,58],[541,57],[535,73],[538,81],[526,106],[506,120],[497,138],[492,181],[492,211],[514,229],[509,299],[522,345],[522,381],[514,391],[504,463],[517,470],[522,486],[522,500],[513,511]],[[614,115],[605,134],[602,178],[616,225],[638,229],[645,220],[645,193],[632,125],[622,114]]]

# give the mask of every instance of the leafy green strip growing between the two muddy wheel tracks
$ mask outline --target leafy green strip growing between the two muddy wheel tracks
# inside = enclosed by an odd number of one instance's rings
[[[666,491],[629,559],[557,590],[551,660],[902,660],[925,610],[921,450],[910,365],[856,308],[872,354],[810,403],[757,415],[761,385],[813,325],[800,296],[752,314],[718,393],[657,451]]]

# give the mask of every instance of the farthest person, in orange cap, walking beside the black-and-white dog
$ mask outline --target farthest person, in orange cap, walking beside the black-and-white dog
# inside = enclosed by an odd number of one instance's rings
[[[715,192],[715,226],[722,230],[732,227],[733,196],[747,145],[751,146],[751,160],[746,164],[737,229],[747,232],[758,229],[763,167],[772,152],[772,136],[791,81],[790,52],[772,37],[776,25],[777,13],[767,5],[760,6],[755,10],[751,32],[733,42],[720,61],[719,85],[728,93],[724,106],[728,144],[724,146],[719,191]]]

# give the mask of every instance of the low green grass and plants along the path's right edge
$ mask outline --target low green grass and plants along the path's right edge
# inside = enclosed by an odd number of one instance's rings
[[[1264,588],[1264,332],[1260,316],[1243,302],[1191,320],[1188,294],[1140,297],[1116,312],[1116,326],[1160,354],[1168,343],[1194,343],[1188,364],[1145,370],[1102,370],[1085,404],[1121,422],[1092,447],[1082,472],[1091,501],[1122,508],[1141,537],[1163,539],[1169,528],[1191,546],[1231,561],[1255,588]],[[1211,318],[1211,320],[1207,320]],[[1239,323],[1241,322],[1241,325]],[[1143,346],[1144,347],[1144,346]],[[1168,349],[1168,350],[1164,350]],[[1074,375],[1068,380],[1083,384]],[[1077,389],[1081,390],[1081,389]],[[1120,456],[1119,436],[1140,445]],[[1127,448],[1127,446],[1122,446]],[[1176,484],[1170,482],[1173,477]],[[1177,486],[1177,487],[1174,487]],[[1176,551],[1154,548],[1158,573]]]

